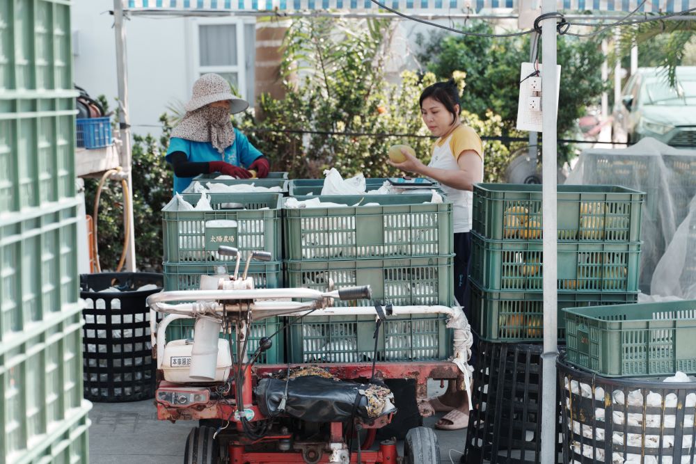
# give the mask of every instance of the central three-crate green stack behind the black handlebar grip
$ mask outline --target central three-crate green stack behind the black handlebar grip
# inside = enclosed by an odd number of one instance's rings
[[[306,189],[317,181],[292,182]],[[288,287],[372,287],[372,301],[335,301],[336,306],[452,305],[451,203],[431,203],[429,194],[294,198],[348,206],[283,208]],[[288,360],[369,361],[374,328],[372,316],[293,320]],[[377,351],[380,361],[442,360],[451,354],[451,334],[438,315],[387,317]]]

